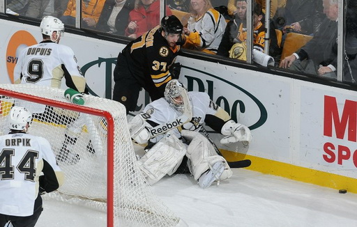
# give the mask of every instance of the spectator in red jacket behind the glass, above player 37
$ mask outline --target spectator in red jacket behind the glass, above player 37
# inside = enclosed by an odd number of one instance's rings
[[[166,15],[172,15],[168,6],[166,6]],[[137,38],[159,24],[160,1],[135,0],[134,9],[129,13],[129,24],[126,29],[126,36]]]

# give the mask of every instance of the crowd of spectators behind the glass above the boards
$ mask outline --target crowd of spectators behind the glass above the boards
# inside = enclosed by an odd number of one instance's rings
[[[349,5],[353,2],[351,1]],[[252,3],[253,49],[264,52],[266,0],[255,0]],[[313,61],[314,67],[312,70],[300,69],[299,72],[319,76],[329,75],[328,73],[331,72],[333,75],[331,78],[335,78],[336,59],[333,56],[337,54],[333,52],[336,52],[337,19],[334,17],[331,19],[329,15],[333,11],[331,6],[335,6],[334,10],[338,11],[337,0],[271,0],[270,3],[270,15],[268,14],[270,41],[266,54],[273,56],[275,67],[288,69],[293,58],[299,60],[296,63],[306,58],[308,61]],[[6,8],[9,14],[38,19],[52,15],[59,17],[66,25],[75,26],[75,0],[10,0]],[[176,15],[181,19],[186,38],[183,48],[245,61],[246,10],[246,0],[167,0],[165,12],[166,15]],[[349,14],[351,18],[351,14],[356,13]],[[160,0],[82,0],[81,27],[84,29],[135,39],[158,24],[160,24]],[[301,37],[305,40],[313,38],[306,44],[301,41],[300,46],[296,45],[289,49],[289,47],[284,48],[284,41],[288,36],[294,36],[296,43],[300,42]],[[324,48],[316,49],[317,45],[314,45],[312,52],[314,55],[319,55],[319,60],[315,59],[307,48],[317,42],[315,40],[318,42],[329,40]],[[347,40],[351,41],[349,45],[354,44],[352,38]],[[284,52],[283,49],[289,51]],[[301,54],[302,52],[305,54]],[[351,58],[354,59],[353,56]],[[296,68],[289,70],[296,70]]]

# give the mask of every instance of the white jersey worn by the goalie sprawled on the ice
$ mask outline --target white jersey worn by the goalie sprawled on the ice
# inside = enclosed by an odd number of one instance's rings
[[[182,127],[175,128],[174,130],[172,130],[172,133],[174,133],[177,138],[181,137],[181,130],[199,131],[199,129],[204,123],[204,120],[206,119],[207,114],[210,114],[212,116],[218,116],[218,118],[221,118],[218,109],[220,109],[220,112],[225,112],[220,107],[218,107],[217,104],[212,102],[210,97],[206,93],[190,91],[188,92],[188,97],[190,99],[190,104],[192,107],[192,119],[190,120],[190,122],[182,125]],[[146,120],[151,120],[152,122],[157,123],[158,125],[165,124],[167,122],[172,122],[172,120],[181,116],[181,113],[172,108],[163,97],[148,104],[144,108],[143,112],[150,116],[150,118]],[[225,112],[225,116],[222,117],[222,119],[229,120],[228,118],[229,116]],[[151,141],[160,141],[161,138],[162,135],[159,135]]]

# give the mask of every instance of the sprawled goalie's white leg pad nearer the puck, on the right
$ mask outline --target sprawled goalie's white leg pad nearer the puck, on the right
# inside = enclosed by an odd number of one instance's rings
[[[185,139],[191,141],[187,148],[186,156],[190,159],[189,167],[195,180],[198,180],[203,173],[211,169],[216,162],[223,162],[225,164],[225,169],[218,180],[225,180],[231,177],[232,172],[226,159],[217,155],[213,145],[206,137],[199,132],[188,130],[182,130],[181,134],[185,136]]]

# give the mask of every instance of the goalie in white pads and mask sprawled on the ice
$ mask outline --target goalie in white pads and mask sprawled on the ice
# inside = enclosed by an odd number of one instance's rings
[[[138,163],[151,185],[166,174],[172,175],[185,162],[185,156],[190,172],[202,188],[231,177],[225,158],[199,133],[204,123],[225,135],[221,143],[249,143],[252,139],[248,127],[230,120],[229,114],[206,93],[187,92],[176,79],[167,83],[165,98],[151,102],[130,120],[132,139],[139,144],[149,141],[146,154]]]

